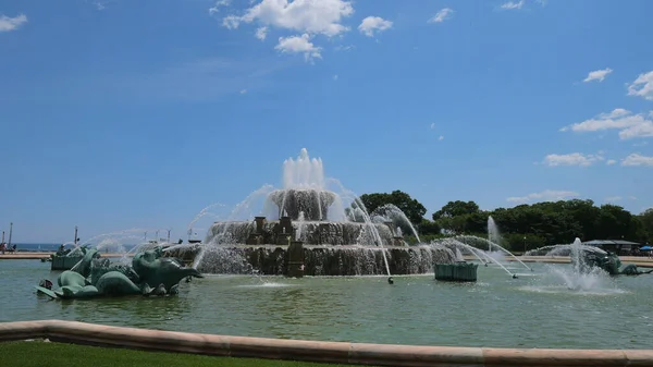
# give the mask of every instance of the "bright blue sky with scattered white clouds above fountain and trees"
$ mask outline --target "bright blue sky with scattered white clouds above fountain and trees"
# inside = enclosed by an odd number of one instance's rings
[[[0,2],[0,229],[184,237],[307,148],[429,215],[653,206],[653,2]],[[208,218],[197,223],[206,231]],[[202,235],[200,233],[200,235]]]

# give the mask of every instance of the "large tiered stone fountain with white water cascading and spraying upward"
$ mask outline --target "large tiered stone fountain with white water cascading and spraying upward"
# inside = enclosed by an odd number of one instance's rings
[[[259,212],[238,220],[262,197]],[[461,256],[441,244],[408,246],[401,227],[412,227],[396,207],[368,212],[338,181],[328,179],[321,159],[306,149],[283,163],[283,187],[266,185],[214,222],[200,244],[167,252],[204,273],[301,276],[410,274],[455,264]],[[248,213],[250,216],[250,213]],[[417,232],[414,231],[417,235]]]

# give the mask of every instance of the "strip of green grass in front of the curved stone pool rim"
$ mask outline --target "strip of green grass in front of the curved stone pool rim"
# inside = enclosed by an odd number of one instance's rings
[[[320,363],[144,352],[64,343],[0,342],[0,366],[21,367],[332,367]]]

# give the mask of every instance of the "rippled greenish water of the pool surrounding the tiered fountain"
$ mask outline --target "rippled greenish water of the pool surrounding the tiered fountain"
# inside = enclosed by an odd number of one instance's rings
[[[394,344],[651,348],[653,276],[575,279],[534,265],[512,279],[479,267],[479,282],[432,274],[304,278],[209,276],[174,297],[53,301],[32,285],[57,272],[0,260],[0,321],[64,319],[217,334]],[[565,276],[566,274],[566,276]],[[565,281],[566,279],[566,281]],[[572,291],[567,284],[581,284]]]

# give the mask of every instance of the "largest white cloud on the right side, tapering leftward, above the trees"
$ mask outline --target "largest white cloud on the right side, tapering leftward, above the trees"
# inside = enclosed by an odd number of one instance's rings
[[[623,108],[614,109],[609,113],[601,113],[594,119],[586,120],[560,131],[596,132],[603,130],[619,130],[619,138],[623,140],[634,137],[653,136],[653,121],[643,113],[632,114]]]

